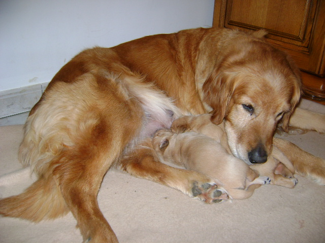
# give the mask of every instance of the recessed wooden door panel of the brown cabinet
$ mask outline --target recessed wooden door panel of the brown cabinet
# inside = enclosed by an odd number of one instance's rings
[[[269,33],[286,36],[299,43],[305,39],[310,0],[233,0],[231,2],[226,25],[264,28]],[[291,43],[290,39],[286,41]]]

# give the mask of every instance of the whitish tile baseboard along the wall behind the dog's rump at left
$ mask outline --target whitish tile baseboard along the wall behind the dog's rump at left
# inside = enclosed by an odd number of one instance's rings
[[[47,85],[43,83],[0,92],[0,118],[29,112]]]

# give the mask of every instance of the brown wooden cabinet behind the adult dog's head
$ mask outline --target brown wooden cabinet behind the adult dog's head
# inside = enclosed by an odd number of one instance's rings
[[[325,0],[215,0],[213,26],[266,29],[303,71],[306,95],[325,100]]]

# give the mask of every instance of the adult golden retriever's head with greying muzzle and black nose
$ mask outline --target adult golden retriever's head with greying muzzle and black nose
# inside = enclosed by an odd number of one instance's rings
[[[299,69],[283,52],[265,41],[238,41],[217,64],[203,85],[212,122],[224,120],[232,153],[248,165],[264,163],[280,120],[287,130],[299,102]]]

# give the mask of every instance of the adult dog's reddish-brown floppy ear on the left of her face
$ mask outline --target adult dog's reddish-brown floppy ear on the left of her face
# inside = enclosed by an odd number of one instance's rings
[[[214,68],[203,84],[203,99],[213,109],[211,121],[214,124],[221,124],[226,115],[233,92],[230,82],[230,78],[220,68]]]

